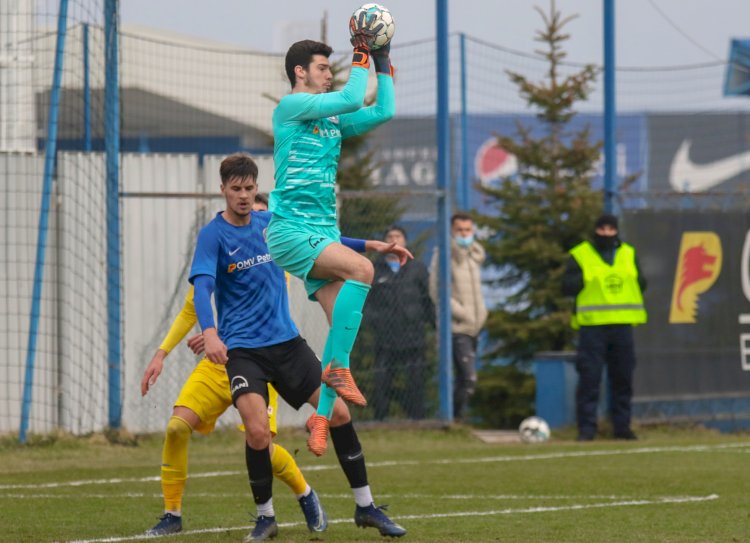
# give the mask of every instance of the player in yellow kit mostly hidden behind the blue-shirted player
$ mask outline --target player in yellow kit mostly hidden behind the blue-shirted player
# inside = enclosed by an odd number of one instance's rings
[[[260,201],[258,201],[260,200]],[[262,199],[256,199],[256,206],[262,207]],[[164,360],[177,344],[195,326],[197,317],[193,303],[193,287],[190,287],[182,311],[175,318],[166,337],[151,359],[141,380],[141,394],[146,395],[156,384],[164,367]],[[203,351],[203,337],[197,334],[188,340],[188,346],[197,353]],[[278,393],[268,386],[268,418],[271,434],[276,435],[276,411]],[[216,420],[232,405],[232,394],[227,372],[223,365],[214,364],[203,358],[196,365],[182,387],[175,401],[172,416],[167,423],[167,431],[162,450],[161,486],[164,496],[164,516],[146,533],[165,535],[182,530],[182,495],[187,480],[187,451],[193,430],[208,434],[216,425]],[[322,532],[328,521],[310,485],[305,481],[294,458],[281,445],[272,444],[271,466],[273,475],[286,483],[299,500],[305,515],[307,527],[312,532]]]

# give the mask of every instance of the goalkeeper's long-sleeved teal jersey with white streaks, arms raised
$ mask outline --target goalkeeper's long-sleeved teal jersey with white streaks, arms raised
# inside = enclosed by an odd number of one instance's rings
[[[376,103],[362,107],[368,70],[352,67],[341,91],[294,93],[273,112],[276,188],[274,217],[315,226],[336,226],[336,170],[341,139],[362,134],[393,116],[393,78],[378,74]]]

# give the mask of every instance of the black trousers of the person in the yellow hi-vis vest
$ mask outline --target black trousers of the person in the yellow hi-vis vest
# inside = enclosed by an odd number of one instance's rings
[[[582,326],[578,338],[576,419],[578,433],[594,435],[604,367],[609,376],[609,409],[615,435],[630,431],[635,345],[629,324]]]

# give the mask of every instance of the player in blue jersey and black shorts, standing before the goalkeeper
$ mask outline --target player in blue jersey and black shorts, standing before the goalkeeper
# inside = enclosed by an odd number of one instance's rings
[[[209,360],[226,364],[232,401],[245,425],[245,460],[257,506],[256,525],[247,541],[275,537],[278,526],[272,499],[269,454],[268,384],[295,409],[317,406],[321,365],[289,314],[284,272],[271,259],[265,233],[271,214],[251,211],[258,169],[247,155],[221,163],[221,191],[226,209],[206,225],[190,270],[198,322]],[[410,253],[395,244],[348,240],[378,252],[394,252],[405,262]],[[211,308],[214,296],[218,332]],[[375,527],[394,537],[406,533],[373,503],[362,447],[346,404],[336,399],[331,437],[354,493],[357,526]]]

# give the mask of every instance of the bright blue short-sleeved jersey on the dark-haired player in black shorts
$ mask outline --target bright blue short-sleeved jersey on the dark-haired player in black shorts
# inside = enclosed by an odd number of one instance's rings
[[[295,338],[284,272],[268,253],[267,211],[253,211],[250,224],[234,226],[221,212],[198,234],[190,282],[216,280],[219,337],[228,349],[267,347]]]

